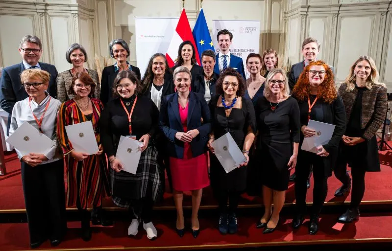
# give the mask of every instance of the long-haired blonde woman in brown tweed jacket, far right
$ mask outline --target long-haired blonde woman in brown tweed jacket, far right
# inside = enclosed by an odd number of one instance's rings
[[[351,167],[352,194],[347,211],[339,221],[349,223],[359,219],[358,206],[365,193],[365,173],[379,172],[380,160],[375,133],[387,113],[387,88],[378,82],[373,59],[361,56],[350,68],[350,74],[339,88],[347,116],[347,128],[339,147],[334,174],[343,185],[335,196],[350,192],[351,180],[346,172]]]

